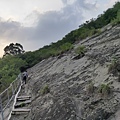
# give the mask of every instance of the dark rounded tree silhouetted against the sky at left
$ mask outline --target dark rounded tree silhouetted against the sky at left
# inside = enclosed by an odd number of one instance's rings
[[[19,43],[10,43],[9,46],[6,46],[4,48],[4,55],[3,56],[7,56],[7,55],[18,55],[18,54],[22,54],[25,51],[23,50],[23,46]]]

